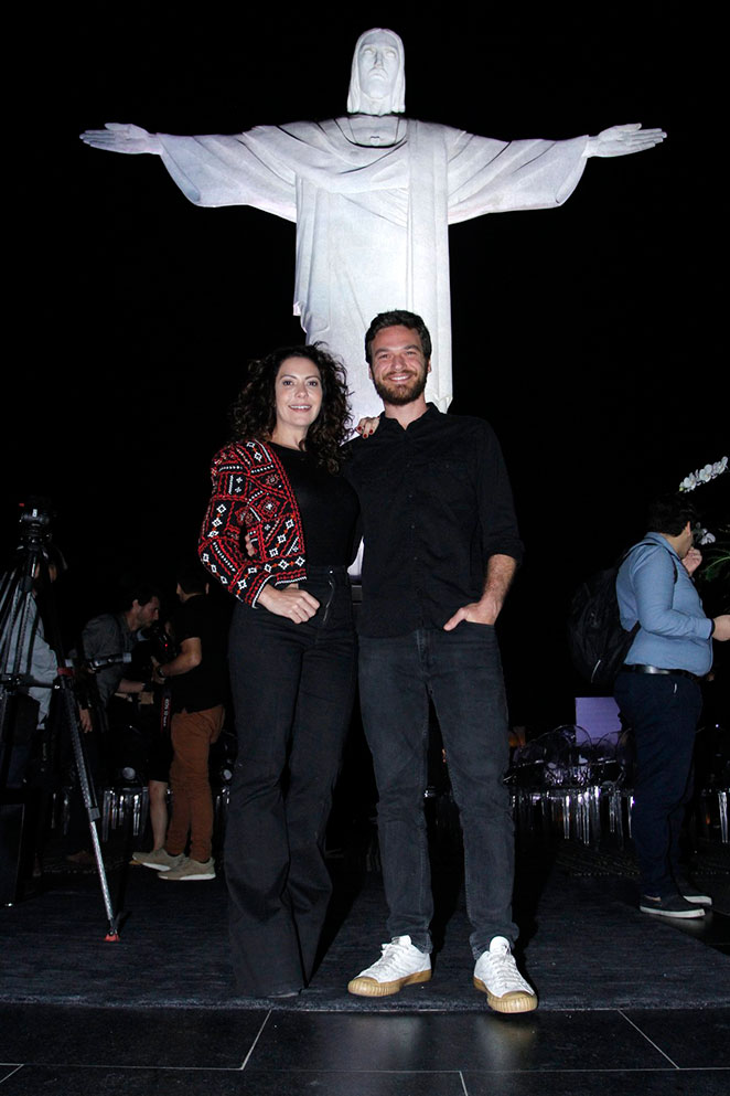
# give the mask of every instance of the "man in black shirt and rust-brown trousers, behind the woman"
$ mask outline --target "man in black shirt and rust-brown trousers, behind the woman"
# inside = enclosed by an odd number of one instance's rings
[[[155,681],[172,689],[172,821],[164,848],[136,852],[133,859],[165,880],[215,879],[208,755],[223,728],[226,674],[207,593],[202,568],[181,571],[174,625],[180,653],[154,671]]]

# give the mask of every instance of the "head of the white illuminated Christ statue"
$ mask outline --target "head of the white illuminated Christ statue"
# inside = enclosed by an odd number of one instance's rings
[[[395,31],[374,26],[357,39],[353,55],[348,114],[402,114],[406,109],[406,55]]]

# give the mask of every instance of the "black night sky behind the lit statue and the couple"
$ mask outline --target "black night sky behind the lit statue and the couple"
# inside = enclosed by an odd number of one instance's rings
[[[590,160],[561,209],[451,230],[452,409],[497,430],[527,545],[501,624],[513,721],[570,721],[569,592],[641,536],[648,496],[728,451],[711,258],[719,31],[659,2],[261,7],[76,7],[29,15],[11,38],[2,544],[19,501],[53,499],[67,634],[109,607],[125,572],[172,596],[244,363],[302,339],[293,225],[195,209],[157,158],[89,149],[78,132],[332,117],[357,35],[390,26],[414,117],[502,139],[627,121],[668,132],[640,156]],[[720,493],[697,501],[717,512]]]

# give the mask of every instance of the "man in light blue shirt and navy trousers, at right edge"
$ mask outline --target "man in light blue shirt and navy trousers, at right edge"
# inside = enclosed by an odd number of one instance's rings
[[[700,680],[712,664],[712,639],[730,638],[730,615],[710,620],[690,577],[701,562],[693,549],[696,520],[681,494],[655,501],[648,511],[652,532],[634,545],[616,578],[621,624],[629,630],[640,624],[614,689],[636,744],[632,833],[638,908],[673,918],[701,917],[712,904],[687,879],[679,832],[693,794]]]

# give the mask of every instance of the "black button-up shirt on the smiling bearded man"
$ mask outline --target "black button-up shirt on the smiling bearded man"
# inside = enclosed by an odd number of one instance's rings
[[[380,416],[348,446],[365,554],[363,636],[442,628],[479,600],[491,555],[519,562],[523,545],[496,436],[481,418],[427,412],[404,429]]]

